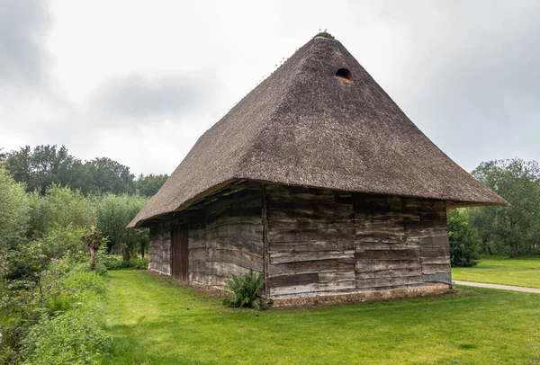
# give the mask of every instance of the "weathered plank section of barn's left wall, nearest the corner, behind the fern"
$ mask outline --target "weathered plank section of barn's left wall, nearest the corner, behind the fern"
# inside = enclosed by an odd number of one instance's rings
[[[222,287],[231,274],[263,272],[261,191],[243,190],[220,196],[204,210],[204,282]],[[200,274],[196,276],[201,278]]]

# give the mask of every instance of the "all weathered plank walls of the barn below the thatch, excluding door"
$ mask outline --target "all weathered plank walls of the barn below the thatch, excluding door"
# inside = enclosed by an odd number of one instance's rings
[[[173,218],[188,222],[190,281],[263,272],[264,236],[270,297],[451,280],[444,202],[266,185],[266,217],[262,203],[257,186],[234,188]],[[170,229],[150,231],[149,268],[167,275]]]

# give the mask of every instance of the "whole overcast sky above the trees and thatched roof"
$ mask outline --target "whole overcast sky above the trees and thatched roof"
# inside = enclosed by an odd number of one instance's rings
[[[65,145],[170,174],[328,29],[471,171],[540,160],[540,1],[0,0],[0,148]]]

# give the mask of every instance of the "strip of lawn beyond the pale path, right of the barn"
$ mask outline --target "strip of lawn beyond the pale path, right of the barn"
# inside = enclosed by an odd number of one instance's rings
[[[455,267],[452,279],[540,288],[540,257],[508,259],[485,257],[474,267]]]

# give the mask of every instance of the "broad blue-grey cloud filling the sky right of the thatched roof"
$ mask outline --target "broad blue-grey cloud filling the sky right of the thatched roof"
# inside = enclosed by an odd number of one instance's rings
[[[410,101],[410,117],[425,121],[428,137],[469,171],[485,160],[540,157],[536,4],[491,11],[488,21],[499,27],[477,29]]]

